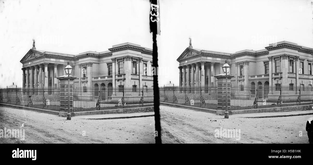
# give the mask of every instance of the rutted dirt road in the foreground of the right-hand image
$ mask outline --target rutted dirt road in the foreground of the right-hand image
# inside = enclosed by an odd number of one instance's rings
[[[311,116],[239,118],[160,106],[162,143],[309,143]],[[238,138],[216,138],[216,129],[240,129]],[[301,133],[302,132],[302,136]]]

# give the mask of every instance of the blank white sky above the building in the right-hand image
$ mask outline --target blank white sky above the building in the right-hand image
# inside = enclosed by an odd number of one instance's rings
[[[160,0],[159,86],[178,85],[189,46],[235,53],[289,41],[313,48],[312,0]]]

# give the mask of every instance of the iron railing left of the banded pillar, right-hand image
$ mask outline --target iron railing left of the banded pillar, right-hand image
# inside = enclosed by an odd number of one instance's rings
[[[217,86],[159,87],[161,102],[217,110]]]

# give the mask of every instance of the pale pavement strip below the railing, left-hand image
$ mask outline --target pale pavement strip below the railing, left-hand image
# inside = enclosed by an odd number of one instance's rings
[[[79,115],[72,118],[82,119],[120,119],[120,118],[141,118],[154,116],[154,112],[139,112],[139,113],[117,113],[117,114],[100,114],[100,115]]]

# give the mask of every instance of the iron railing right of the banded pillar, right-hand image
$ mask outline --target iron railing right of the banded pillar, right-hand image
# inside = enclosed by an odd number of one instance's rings
[[[231,86],[231,110],[313,104],[312,86]]]

